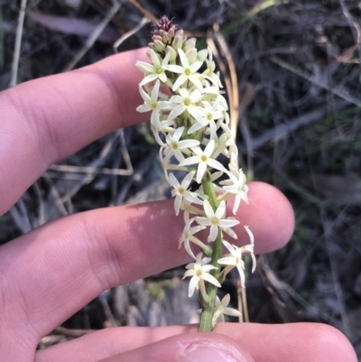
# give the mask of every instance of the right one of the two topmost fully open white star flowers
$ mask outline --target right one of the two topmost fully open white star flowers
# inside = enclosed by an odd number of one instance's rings
[[[197,75],[197,70],[202,66],[202,61],[195,61],[194,63],[190,64],[186,54],[181,49],[178,50],[180,55],[180,65],[167,65],[166,69],[170,70],[174,73],[179,73],[180,76],[175,81],[173,91],[180,88],[182,84],[184,84],[187,80],[190,80],[199,90],[202,90],[202,83],[200,83],[199,76]]]

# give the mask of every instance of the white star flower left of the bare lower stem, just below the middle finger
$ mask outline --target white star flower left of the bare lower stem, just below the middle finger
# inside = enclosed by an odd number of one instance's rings
[[[214,265],[206,265],[210,262],[210,257],[204,257],[202,258],[202,253],[199,253],[196,258],[195,263],[190,263],[186,266],[187,272],[184,274],[183,278],[187,278],[188,276],[191,276],[190,279],[190,290],[189,290],[189,296],[191,297],[194,293],[194,290],[197,289],[201,292],[203,298],[205,301],[208,301],[208,295],[206,293],[206,286],[204,281],[207,281],[208,283],[212,283],[218,288],[220,288],[220,283],[218,280],[209,272],[213,269],[218,269]]]

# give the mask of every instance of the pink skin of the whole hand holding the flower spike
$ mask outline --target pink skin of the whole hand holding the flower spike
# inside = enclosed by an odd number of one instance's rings
[[[135,60],[144,51],[109,57],[81,70],[32,80],[0,93],[0,215],[53,163],[126,125],[146,120]],[[255,234],[255,252],[284,246],[292,236],[292,207],[279,190],[249,184],[236,228]],[[0,246],[0,356],[2,362],[180,361],[180,345],[236,348],[248,362],[356,362],[338,330],[316,323],[220,323],[100,330],[35,351],[43,336],[113,286],[190,262],[178,248],[182,218],[172,200],[97,209],[59,218]],[[230,337],[231,336],[231,337]],[[227,348],[226,348],[227,347]],[[186,348],[187,349],[187,348]],[[201,349],[199,349],[201,350]],[[233,349],[232,349],[233,350]],[[185,360],[185,359],[184,359]]]

